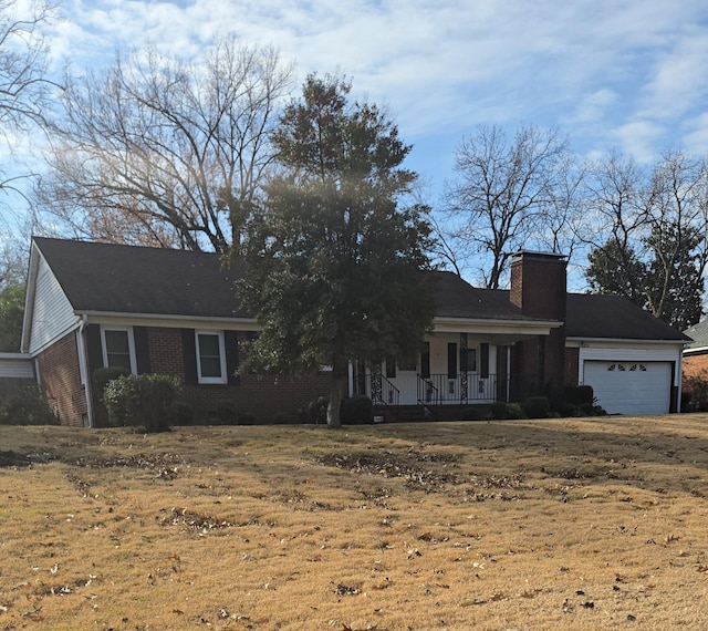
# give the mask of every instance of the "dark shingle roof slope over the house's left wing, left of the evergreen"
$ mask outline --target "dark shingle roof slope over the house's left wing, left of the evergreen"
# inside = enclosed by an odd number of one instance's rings
[[[248,318],[219,256],[35,238],[76,311]]]

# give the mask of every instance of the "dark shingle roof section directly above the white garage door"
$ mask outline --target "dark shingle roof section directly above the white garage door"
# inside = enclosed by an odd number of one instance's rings
[[[568,294],[565,335],[616,340],[689,340],[628,298],[591,293]]]

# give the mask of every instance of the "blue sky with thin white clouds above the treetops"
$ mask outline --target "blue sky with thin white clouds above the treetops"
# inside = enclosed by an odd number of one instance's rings
[[[30,0],[20,0],[29,2]],[[110,64],[149,42],[198,58],[216,34],[351,77],[388,107],[435,206],[480,124],[556,127],[581,158],[708,152],[705,0],[59,0],[50,66]]]

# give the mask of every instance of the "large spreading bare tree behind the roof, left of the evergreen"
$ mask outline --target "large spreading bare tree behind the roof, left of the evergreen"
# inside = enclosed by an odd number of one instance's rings
[[[93,239],[238,249],[290,76],[273,49],[228,37],[204,64],[147,49],[67,79],[40,208]]]

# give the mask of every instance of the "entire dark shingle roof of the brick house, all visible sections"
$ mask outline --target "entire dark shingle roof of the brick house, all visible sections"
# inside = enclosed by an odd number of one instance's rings
[[[250,318],[233,281],[210,252],[116,246],[35,237],[74,310]],[[437,316],[471,320],[538,321],[509,302],[509,291],[478,289],[452,272],[436,272]],[[568,294],[566,335],[635,340],[689,340],[629,300]]]

